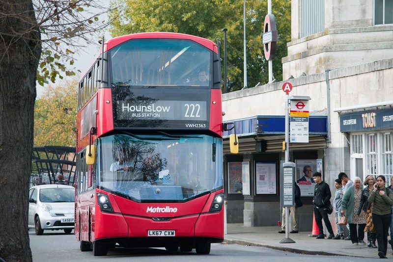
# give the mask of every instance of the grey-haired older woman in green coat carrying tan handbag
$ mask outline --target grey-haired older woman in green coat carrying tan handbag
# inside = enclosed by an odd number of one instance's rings
[[[363,240],[365,238],[365,212],[362,210],[360,215],[357,214],[362,196],[360,184],[360,177],[356,177],[353,185],[345,190],[341,201],[341,214],[345,214],[348,219],[349,235],[353,245],[365,244]]]

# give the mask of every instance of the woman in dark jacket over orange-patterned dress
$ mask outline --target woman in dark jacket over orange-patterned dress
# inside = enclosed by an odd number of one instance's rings
[[[357,214],[360,215],[362,210],[365,211],[365,232],[367,232],[367,246],[376,248],[377,247],[375,245],[376,233],[375,233],[374,223],[372,223],[372,214],[371,214],[372,204],[369,204],[367,201],[368,195],[370,194],[375,184],[374,176],[368,175],[365,178],[365,182],[363,182],[363,184],[365,185],[365,188],[363,188],[362,196],[360,197],[360,205]]]

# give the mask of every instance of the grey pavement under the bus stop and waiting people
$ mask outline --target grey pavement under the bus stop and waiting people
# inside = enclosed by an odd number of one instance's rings
[[[367,245],[353,245],[350,240],[316,239],[311,232],[279,234],[281,227],[244,227],[243,224],[227,224],[224,242],[248,246],[261,246],[299,254],[349,256],[361,258],[379,258],[378,248]],[[388,236],[390,239],[390,236]],[[287,242],[293,243],[287,243]],[[365,242],[367,235],[365,234]],[[388,244],[388,259],[393,260],[392,247]]]

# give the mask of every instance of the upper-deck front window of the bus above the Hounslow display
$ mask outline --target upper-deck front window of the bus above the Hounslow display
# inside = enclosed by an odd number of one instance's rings
[[[136,39],[110,51],[112,86],[210,86],[212,52],[180,39]]]

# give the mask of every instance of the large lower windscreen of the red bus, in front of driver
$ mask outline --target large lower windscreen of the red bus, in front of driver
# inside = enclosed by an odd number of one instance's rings
[[[136,202],[186,202],[223,186],[220,140],[208,135],[125,135],[100,138],[97,186]]]

